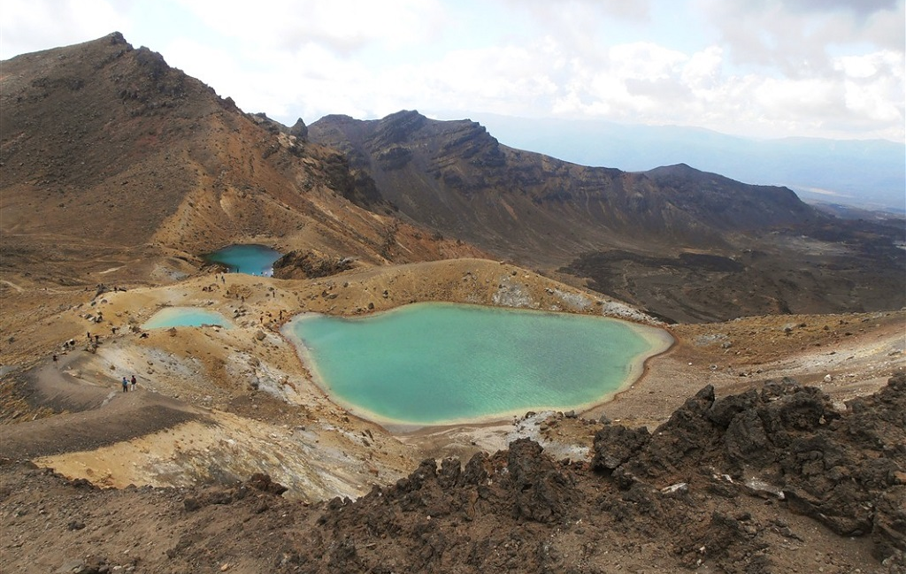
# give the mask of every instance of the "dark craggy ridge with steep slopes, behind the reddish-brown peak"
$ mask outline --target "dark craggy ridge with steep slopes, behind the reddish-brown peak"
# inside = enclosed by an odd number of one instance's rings
[[[630,174],[577,166],[507,148],[475,122],[416,111],[328,116],[310,137],[346,152],[413,220],[535,261],[627,241],[714,246],[728,233],[823,217],[788,189],[689,167]]]

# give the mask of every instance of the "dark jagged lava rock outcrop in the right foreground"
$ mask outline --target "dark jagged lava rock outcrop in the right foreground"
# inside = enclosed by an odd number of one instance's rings
[[[632,438],[615,429],[596,437],[598,467],[623,486],[710,469],[739,489],[774,493],[841,536],[873,533],[879,556],[906,549],[906,375],[844,413],[820,389],[788,379],[721,399],[708,386],[643,447]],[[604,464],[620,445],[634,454]]]

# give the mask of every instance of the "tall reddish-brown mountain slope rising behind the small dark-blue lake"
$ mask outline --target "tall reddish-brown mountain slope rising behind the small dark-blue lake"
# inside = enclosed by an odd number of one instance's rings
[[[130,273],[107,279],[125,282],[149,275],[136,259],[251,238],[371,263],[443,256],[429,234],[348,201],[363,195],[344,158],[267,129],[119,33],[17,56],[2,82],[7,270],[46,266],[72,284],[116,259]]]

